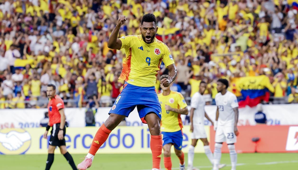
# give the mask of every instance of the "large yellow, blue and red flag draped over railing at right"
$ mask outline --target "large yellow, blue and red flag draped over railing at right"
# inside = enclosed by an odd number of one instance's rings
[[[262,100],[269,100],[269,91],[274,92],[274,87],[266,75],[241,77],[237,83],[237,88],[243,97],[239,101],[239,107],[257,106]]]

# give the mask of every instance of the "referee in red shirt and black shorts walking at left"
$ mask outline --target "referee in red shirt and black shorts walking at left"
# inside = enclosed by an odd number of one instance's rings
[[[46,170],[49,170],[54,161],[54,151],[56,146],[60,148],[60,152],[66,158],[72,169],[77,170],[72,155],[66,150],[65,145],[65,114],[63,100],[56,95],[56,87],[53,84],[49,84],[46,87],[46,95],[49,98],[48,110],[49,110],[49,122],[44,133],[44,138],[47,139],[47,135],[50,127],[52,126],[51,136],[49,140],[48,159],[46,160]]]

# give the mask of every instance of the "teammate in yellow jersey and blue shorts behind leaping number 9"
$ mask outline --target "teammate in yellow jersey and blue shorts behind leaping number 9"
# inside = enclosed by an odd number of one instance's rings
[[[163,78],[168,78],[168,75],[162,75]],[[174,145],[176,155],[180,160],[180,170],[185,169],[184,153],[182,149],[182,121],[181,114],[188,114],[187,104],[184,97],[179,92],[170,90],[169,87],[161,86],[163,92],[158,94],[159,103],[162,106],[162,147],[164,149],[164,167],[166,170],[172,169],[171,147]]]

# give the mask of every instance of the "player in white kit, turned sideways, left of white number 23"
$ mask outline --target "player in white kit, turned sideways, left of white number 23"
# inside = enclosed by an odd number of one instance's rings
[[[192,144],[189,147],[188,151],[188,167],[187,170],[195,170],[196,168],[193,168],[193,158],[194,158],[194,149],[197,145],[198,139],[201,139],[201,141],[204,144],[204,150],[205,154],[207,155],[207,158],[210,160],[210,162],[213,164],[213,155],[209,147],[209,142],[207,140],[207,135],[204,128],[204,117],[206,117],[213,125],[212,120],[208,117],[208,115],[205,112],[205,100],[203,97],[203,94],[206,90],[207,83],[204,81],[201,81],[199,86],[199,91],[196,92],[193,97],[191,98],[190,102],[190,131],[191,138],[192,138]],[[225,164],[219,165],[219,168],[224,167]]]

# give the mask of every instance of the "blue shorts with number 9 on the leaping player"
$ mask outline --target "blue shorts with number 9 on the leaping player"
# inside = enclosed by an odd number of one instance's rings
[[[122,92],[118,95],[109,114],[128,115],[137,107],[139,117],[146,123],[145,116],[154,112],[159,119],[162,118],[162,107],[160,106],[155,87],[140,87],[125,82]]]

